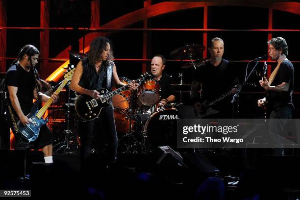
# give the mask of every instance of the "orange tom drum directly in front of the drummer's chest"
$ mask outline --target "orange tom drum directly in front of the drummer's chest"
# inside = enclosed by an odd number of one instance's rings
[[[156,80],[146,81],[141,86],[138,98],[144,105],[153,105],[160,99],[160,89],[160,85]]]

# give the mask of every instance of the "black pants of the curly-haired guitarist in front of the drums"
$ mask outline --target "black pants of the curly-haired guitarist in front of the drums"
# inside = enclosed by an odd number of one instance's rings
[[[91,144],[93,135],[100,136],[97,140],[97,146],[103,144],[104,137],[108,140],[108,161],[116,161],[118,149],[118,136],[116,131],[114,112],[112,106],[102,108],[99,119],[80,122],[80,135],[81,135],[81,161],[84,161],[91,155]]]

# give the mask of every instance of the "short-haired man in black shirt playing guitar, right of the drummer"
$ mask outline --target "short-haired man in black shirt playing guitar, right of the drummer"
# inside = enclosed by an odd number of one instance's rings
[[[213,38],[209,44],[208,51],[210,59],[201,63],[194,75],[190,93],[192,105],[198,116],[205,115],[205,118],[232,118],[232,98],[230,96],[211,106],[212,109],[210,110],[216,112],[209,112],[201,104],[205,100],[215,100],[239,83],[236,66],[222,58],[224,41],[221,38]],[[200,89],[201,98],[199,98],[198,94]]]

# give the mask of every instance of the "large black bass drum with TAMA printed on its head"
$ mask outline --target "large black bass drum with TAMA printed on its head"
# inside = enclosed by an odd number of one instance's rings
[[[170,146],[176,149],[177,119],[181,119],[181,116],[175,108],[167,108],[150,116],[144,131],[151,148]]]

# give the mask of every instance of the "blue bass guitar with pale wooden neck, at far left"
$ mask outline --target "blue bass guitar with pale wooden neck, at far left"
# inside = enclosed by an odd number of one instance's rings
[[[67,82],[72,79],[74,71],[75,68],[65,75],[65,79],[60,84],[60,86],[55,90],[56,94],[59,94],[60,91],[64,88],[64,86],[67,84]],[[39,136],[41,126],[45,125],[48,122],[48,118],[43,119],[43,115],[45,114],[46,110],[48,109],[48,107],[51,105],[52,102],[53,99],[50,98],[44,104],[44,106],[39,110],[38,107],[40,105],[40,102],[36,101],[33,104],[30,113],[27,115],[27,118],[29,118],[32,121],[32,123],[24,126],[21,123],[21,121],[16,117],[15,111],[13,110],[9,100],[7,100],[6,103],[8,107],[8,114],[9,114],[10,122],[12,124],[11,127],[14,134],[17,137],[19,137],[24,143],[35,141]]]

